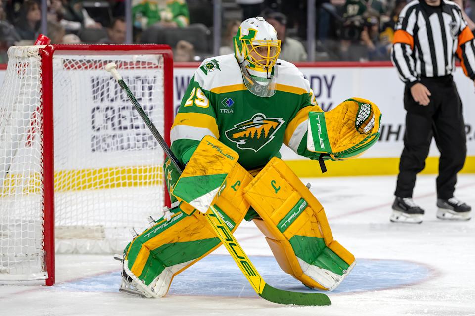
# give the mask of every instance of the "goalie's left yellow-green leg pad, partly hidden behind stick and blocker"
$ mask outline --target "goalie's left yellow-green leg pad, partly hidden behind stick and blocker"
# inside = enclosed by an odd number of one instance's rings
[[[249,203],[244,187],[252,176],[239,164],[227,175],[229,184],[220,192],[214,205],[233,232],[244,218]],[[186,212],[181,208],[186,207]],[[162,297],[173,277],[216,249],[221,243],[203,215],[190,213],[184,202],[172,210],[171,220],[160,220],[134,238],[124,251],[124,273],[132,285],[146,297]],[[187,214],[190,213],[190,214]]]

